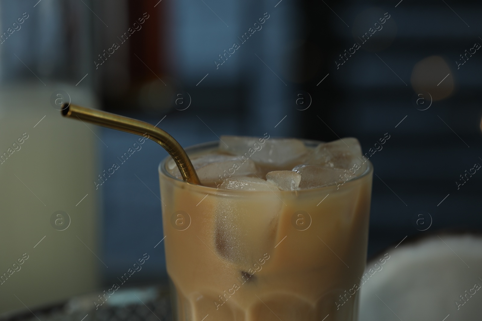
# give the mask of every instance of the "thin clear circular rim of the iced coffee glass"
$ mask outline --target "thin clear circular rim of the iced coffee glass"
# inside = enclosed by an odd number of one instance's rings
[[[299,139],[300,141],[303,141],[303,143],[305,143],[305,145],[307,144],[319,144],[319,143],[322,143],[323,141],[315,141],[315,140],[308,140],[308,139]],[[202,149],[208,149],[209,147],[216,147],[217,145],[219,145],[219,141],[206,141],[206,142],[201,142],[199,144],[195,144],[195,145],[191,145],[189,147],[186,147],[185,148],[185,151],[187,154],[189,154],[190,151],[192,150],[202,150]],[[362,155],[363,157],[363,155]],[[175,176],[173,176],[171,173],[169,173],[166,169],[166,165],[167,165],[167,162],[170,161],[172,159],[172,157],[170,155],[167,155],[166,157],[164,157],[163,160],[161,160],[161,162],[159,163],[159,167],[158,167],[158,171],[159,173],[162,173],[164,176],[166,176],[167,178],[170,178],[170,179],[173,179],[173,180],[177,180],[177,181],[180,181],[180,182],[183,182],[183,183],[187,183],[186,181],[184,181],[182,178],[177,178]],[[362,174],[360,174],[359,176],[355,177],[354,179],[352,180],[348,180],[346,181],[345,183],[348,183],[350,184],[351,182],[353,181],[357,181],[359,179],[362,179],[363,177],[367,176],[370,172],[373,172],[373,164],[372,162],[367,159],[364,163],[367,163],[367,167],[366,169],[363,171]],[[363,164],[364,164],[363,163]],[[177,166],[176,166],[177,168]],[[353,174],[352,174],[353,175]],[[345,184],[344,183],[344,184]],[[200,187],[200,188],[207,188],[209,190],[212,190],[212,191],[219,191],[218,188],[214,188],[214,187],[209,187],[209,186],[204,186],[204,185],[194,185],[194,184],[189,184],[190,186],[196,186],[196,187]],[[333,186],[336,186],[336,184],[333,184],[333,185],[328,185],[328,186],[321,186],[321,187],[316,187],[316,188],[310,188],[310,189],[303,189],[303,190],[294,190],[294,191],[276,191],[276,192],[290,192],[290,193],[293,193],[293,192],[296,192],[296,193],[300,193],[300,192],[304,192],[304,191],[317,191],[317,190],[321,190],[321,189],[327,189],[327,188],[331,188]],[[247,192],[247,193],[253,193],[253,192],[258,192],[258,193],[262,193],[262,192],[267,192],[267,191],[241,191],[241,190],[224,190],[224,189],[221,189],[221,191],[223,192],[229,192],[229,191],[233,191],[233,192]]]

